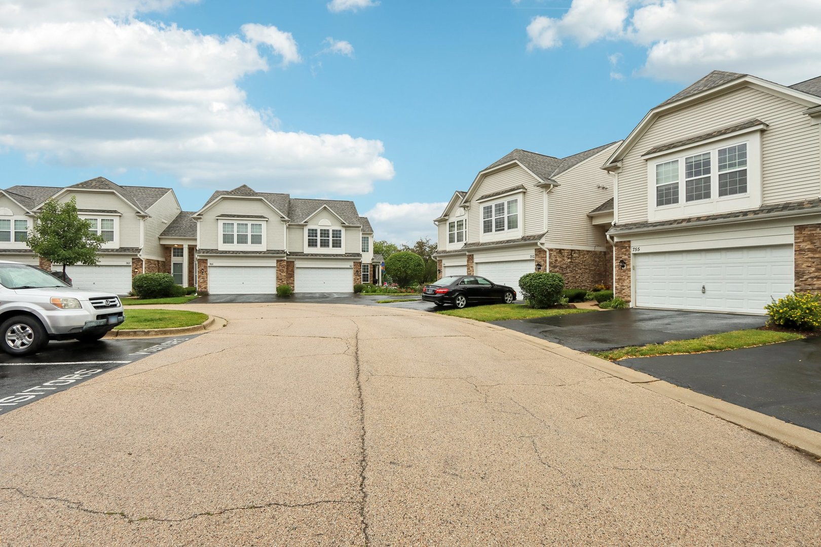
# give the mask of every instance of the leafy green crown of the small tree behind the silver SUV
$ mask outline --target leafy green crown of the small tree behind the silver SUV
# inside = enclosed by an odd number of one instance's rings
[[[62,264],[65,275],[67,266],[95,266],[99,262],[97,252],[105,239],[91,232],[91,222],[80,218],[77,201],[72,196],[66,203],[48,199],[25,243],[49,262]]]

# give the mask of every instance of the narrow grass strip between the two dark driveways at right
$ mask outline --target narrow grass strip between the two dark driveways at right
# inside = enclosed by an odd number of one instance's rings
[[[664,344],[647,344],[644,346],[629,346],[612,349],[610,351],[592,352],[596,357],[618,361],[629,357],[653,357],[654,355],[673,355],[681,353],[702,353],[705,351],[721,351],[722,349],[751,348],[764,344],[775,344],[787,340],[804,338],[796,332],[780,332],[777,330],[745,329],[723,332],[720,335],[708,335],[691,340],[672,340]]]

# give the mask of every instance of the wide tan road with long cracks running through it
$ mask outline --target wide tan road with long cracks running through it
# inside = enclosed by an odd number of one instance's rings
[[[497,327],[230,324],[0,416],[2,545],[819,545],[821,466]]]

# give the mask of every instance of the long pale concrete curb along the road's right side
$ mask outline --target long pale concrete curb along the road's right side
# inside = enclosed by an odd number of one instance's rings
[[[416,310],[406,310],[415,312]],[[427,312],[420,312],[427,313]],[[750,408],[740,407],[737,404],[727,403],[722,399],[716,399],[709,395],[700,394],[693,390],[673,385],[667,381],[660,380],[655,376],[650,376],[644,372],[635,371],[632,368],[622,367],[615,362],[605,361],[602,358],[594,357],[588,353],[570,349],[560,344],[554,344],[547,340],[540,340],[534,336],[525,335],[516,330],[506,329],[503,326],[491,325],[481,321],[474,321],[464,317],[442,316],[458,321],[468,321],[474,326],[484,326],[491,330],[503,330],[508,336],[526,342],[528,344],[545,349],[550,353],[555,353],[571,361],[578,362],[587,367],[594,368],[600,372],[615,376],[620,380],[638,385],[645,390],[663,395],[667,399],[673,399],[686,406],[700,410],[721,418],[726,422],[741,426],[746,430],[758,433],[768,439],[785,444],[792,449],[808,454],[813,458],[821,458],[821,433],[805,427],[796,426],[789,422],[779,420],[777,417],[768,416],[750,410]]]

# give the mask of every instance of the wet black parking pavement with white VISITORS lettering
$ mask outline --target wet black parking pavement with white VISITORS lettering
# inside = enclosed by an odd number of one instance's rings
[[[0,414],[197,336],[199,334],[89,343],[72,340],[50,342],[39,353],[28,357],[0,353]]]

